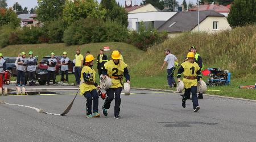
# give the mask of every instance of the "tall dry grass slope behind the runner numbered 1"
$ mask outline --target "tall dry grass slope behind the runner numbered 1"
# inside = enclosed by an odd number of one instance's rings
[[[179,62],[184,60],[189,47],[197,47],[203,57],[204,69],[221,68],[232,73],[228,86],[209,87],[207,94],[226,95],[256,99],[256,89],[238,89],[240,85],[254,85],[256,82],[256,27],[235,28],[218,34],[185,33],[179,37],[168,39],[164,43],[148,49],[136,68],[133,86],[168,89],[166,70],[160,70],[166,48],[171,49]],[[207,81],[207,77],[204,77]]]

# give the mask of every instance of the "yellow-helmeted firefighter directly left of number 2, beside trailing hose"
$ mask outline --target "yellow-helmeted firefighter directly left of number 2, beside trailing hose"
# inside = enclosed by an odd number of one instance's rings
[[[94,63],[93,55],[87,55],[85,57],[85,66],[81,72],[80,92],[86,98],[86,117],[87,118],[98,118],[98,93],[97,88],[100,88],[95,82],[96,72],[92,68]],[[93,102],[93,113],[92,113],[92,102]]]

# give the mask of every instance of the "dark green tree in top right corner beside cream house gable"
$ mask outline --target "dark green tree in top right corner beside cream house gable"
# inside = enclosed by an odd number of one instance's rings
[[[254,0],[235,0],[228,15],[228,22],[231,27],[256,24]]]

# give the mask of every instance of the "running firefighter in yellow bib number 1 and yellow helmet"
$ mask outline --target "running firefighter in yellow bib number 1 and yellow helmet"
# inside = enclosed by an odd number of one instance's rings
[[[183,73],[183,82],[185,94],[182,98],[182,106],[186,107],[186,100],[192,93],[193,111],[197,112],[200,107],[197,98],[197,82],[201,80],[201,70],[199,65],[195,62],[195,54],[189,52],[188,60],[183,62],[177,74],[177,81],[180,82],[181,73]]]

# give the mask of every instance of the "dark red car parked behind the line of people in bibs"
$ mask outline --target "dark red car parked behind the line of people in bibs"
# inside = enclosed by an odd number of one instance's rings
[[[61,64],[60,64],[60,59],[63,56],[55,56],[55,58],[57,59],[57,65],[56,65],[56,74],[60,74],[60,68],[61,68]],[[43,59],[39,62],[38,64],[38,69],[47,69],[48,65],[46,64],[46,62],[48,61],[48,59],[50,59],[51,56],[46,56],[43,57]],[[68,72],[73,73],[73,63],[72,61],[68,62]]]

